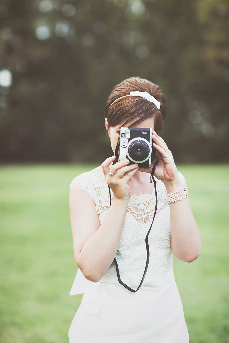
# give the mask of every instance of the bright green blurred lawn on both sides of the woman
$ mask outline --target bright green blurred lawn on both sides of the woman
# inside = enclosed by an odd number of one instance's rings
[[[68,189],[76,175],[94,167],[1,167],[1,343],[68,342],[68,328],[81,301],[81,296],[69,296],[77,268]],[[188,165],[179,170],[186,177],[202,235],[196,261],[174,258],[190,343],[228,343],[229,168]]]

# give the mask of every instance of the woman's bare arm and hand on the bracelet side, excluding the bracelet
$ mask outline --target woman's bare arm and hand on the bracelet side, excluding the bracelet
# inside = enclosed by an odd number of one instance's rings
[[[153,131],[152,139],[154,141],[153,146],[157,150],[159,157],[154,176],[164,183],[168,194],[178,191],[182,188],[182,184],[172,153],[163,139],[155,131]],[[145,170],[139,168],[139,171],[151,173],[151,169],[152,167]],[[201,236],[190,209],[188,198],[173,202],[169,206],[172,251],[178,259],[185,262],[192,262],[199,256]]]

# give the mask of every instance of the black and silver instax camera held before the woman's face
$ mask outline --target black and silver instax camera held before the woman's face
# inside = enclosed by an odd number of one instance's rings
[[[150,167],[156,158],[156,149],[152,143],[150,128],[121,128],[119,161],[129,159],[129,164]]]

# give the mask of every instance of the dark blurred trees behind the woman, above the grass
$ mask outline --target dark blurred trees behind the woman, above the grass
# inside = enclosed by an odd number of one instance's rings
[[[130,76],[167,95],[176,162],[227,161],[227,1],[2,0],[0,22],[2,162],[110,156],[105,101]]]

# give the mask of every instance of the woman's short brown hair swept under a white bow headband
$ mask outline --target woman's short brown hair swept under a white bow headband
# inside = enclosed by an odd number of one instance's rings
[[[160,109],[143,97],[125,96],[136,91],[148,92],[154,96],[161,103]],[[122,81],[114,87],[107,98],[104,117],[107,118],[109,126],[106,135],[108,136],[110,127],[115,127],[118,124],[125,126],[133,119],[136,121],[132,125],[137,125],[148,118],[154,118],[154,130],[160,133],[165,120],[166,102],[167,98],[162,93],[161,88],[146,79],[129,78]]]

